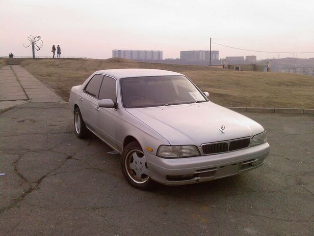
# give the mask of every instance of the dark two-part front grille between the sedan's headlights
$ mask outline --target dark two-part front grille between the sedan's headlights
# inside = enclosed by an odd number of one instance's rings
[[[242,148],[247,148],[250,145],[251,138],[228,140],[214,144],[202,145],[204,154],[214,154],[227,151],[235,151]]]

